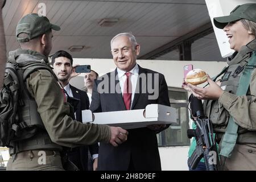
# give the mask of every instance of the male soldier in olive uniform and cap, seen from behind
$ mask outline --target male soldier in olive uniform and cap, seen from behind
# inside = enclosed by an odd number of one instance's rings
[[[8,61],[19,64],[39,61],[49,65],[52,30],[58,31],[60,27],[49,23],[45,16],[24,16],[16,27],[20,48],[9,53]],[[25,84],[27,92],[23,90],[24,104],[19,108],[19,114],[23,121],[20,127],[26,128],[27,135],[22,140],[11,141],[7,170],[63,170],[60,157],[63,146],[96,142],[118,146],[127,139],[127,131],[120,127],[73,121],[69,117],[70,106],[51,70],[32,72]]]

